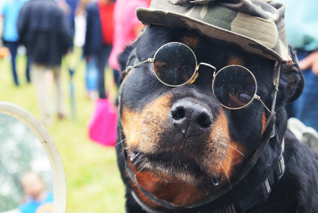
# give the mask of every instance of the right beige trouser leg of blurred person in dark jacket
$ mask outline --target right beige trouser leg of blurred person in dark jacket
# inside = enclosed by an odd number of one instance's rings
[[[58,112],[59,119],[65,118],[64,109],[63,109],[63,92],[61,85],[61,66],[55,65],[52,66],[52,72],[54,76],[55,86],[56,86],[56,108]]]

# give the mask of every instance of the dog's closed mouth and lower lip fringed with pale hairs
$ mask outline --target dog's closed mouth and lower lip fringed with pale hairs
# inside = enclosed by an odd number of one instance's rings
[[[222,179],[222,174],[203,174],[202,169],[194,166],[196,163],[187,157],[168,156],[165,159],[165,156],[160,156],[160,159],[134,150],[130,152],[130,162],[137,173],[150,172],[165,183],[186,183],[209,194],[216,191]]]

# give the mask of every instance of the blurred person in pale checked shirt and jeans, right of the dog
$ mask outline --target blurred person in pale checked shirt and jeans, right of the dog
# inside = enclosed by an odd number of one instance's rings
[[[287,41],[297,51],[306,81],[302,95],[286,106],[295,117],[318,131],[318,1],[280,0],[286,5]]]

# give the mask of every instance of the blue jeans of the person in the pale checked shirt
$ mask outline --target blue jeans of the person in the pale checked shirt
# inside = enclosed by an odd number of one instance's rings
[[[299,60],[306,58],[311,52],[297,51]],[[286,106],[288,118],[294,117],[308,127],[318,131],[318,76],[311,68],[302,71],[306,85],[301,96],[293,103]]]

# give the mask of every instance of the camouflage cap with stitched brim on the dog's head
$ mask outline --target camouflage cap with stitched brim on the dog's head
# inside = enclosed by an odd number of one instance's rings
[[[152,0],[136,9],[144,24],[195,30],[212,41],[279,62],[291,61],[285,5],[262,0]]]

